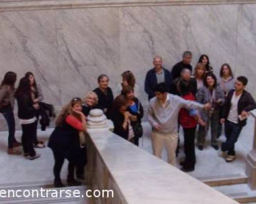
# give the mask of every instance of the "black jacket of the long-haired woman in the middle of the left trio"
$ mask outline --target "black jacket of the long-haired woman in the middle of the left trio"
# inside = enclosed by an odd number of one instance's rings
[[[31,119],[36,116],[36,109],[33,107],[33,100],[30,95],[19,94],[17,96],[18,118]]]

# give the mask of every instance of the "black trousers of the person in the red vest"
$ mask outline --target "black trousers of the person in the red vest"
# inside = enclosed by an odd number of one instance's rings
[[[184,151],[185,151],[185,162],[184,168],[194,168],[196,163],[195,154],[195,134],[197,127],[184,128]]]

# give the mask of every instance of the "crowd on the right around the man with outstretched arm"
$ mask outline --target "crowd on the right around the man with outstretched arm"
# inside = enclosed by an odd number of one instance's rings
[[[236,158],[234,145],[246,124],[249,111],[256,108],[253,97],[245,90],[246,77],[235,79],[229,64],[225,63],[217,78],[207,55],[200,56],[192,75],[192,57],[191,52],[184,52],[182,61],[170,71],[162,67],[161,57],[155,57],[154,68],[147,72],[145,79],[154,155],[161,158],[165,147],[168,162],[176,164],[181,126],[185,160],[180,165],[185,172],[195,170],[197,127],[198,149],[204,149],[210,126],[210,143],[218,150],[218,138],[224,124],[226,141],[221,144],[219,155],[226,162],[232,162]]]

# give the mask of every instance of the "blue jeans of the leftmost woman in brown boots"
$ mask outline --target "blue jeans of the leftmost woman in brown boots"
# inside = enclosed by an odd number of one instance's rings
[[[16,141],[15,139],[15,119],[14,119],[14,114],[12,110],[8,110],[5,112],[2,112],[4,115],[7,125],[8,125],[8,131],[9,131],[9,136],[8,136],[8,147],[12,148],[13,147],[13,142]]]

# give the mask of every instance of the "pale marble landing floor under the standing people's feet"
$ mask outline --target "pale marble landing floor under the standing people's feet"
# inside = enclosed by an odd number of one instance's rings
[[[151,127],[147,122],[143,122],[144,137],[140,140],[140,148],[152,154],[151,146]],[[49,135],[53,129],[48,129],[43,132],[38,130],[39,140],[47,143]],[[247,126],[243,129],[239,141],[236,145],[237,159],[233,163],[226,163],[222,158],[218,157],[217,151],[214,150],[208,143],[203,151],[196,149],[197,164],[194,172],[190,172],[200,180],[203,179],[218,179],[223,176],[236,176],[245,174],[245,158],[247,153],[252,148],[254,121],[249,118]],[[21,131],[16,131],[16,138],[20,141]],[[36,187],[51,187],[53,181],[53,156],[51,149],[37,148],[41,154],[39,159],[30,161],[24,156],[11,156],[7,154],[7,132],[0,132],[0,188],[12,186],[36,186]],[[179,162],[184,159],[183,153],[183,136],[180,133],[181,150],[177,158],[177,167],[180,168]],[[220,142],[224,140],[224,135],[220,138]],[[207,137],[209,141],[209,136]],[[166,154],[163,152],[163,160],[166,161]],[[65,162],[61,178],[66,180],[67,162]],[[81,201],[81,200],[80,200]],[[0,200],[1,202],[1,200]],[[2,203],[2,202],[1,202]],[[3,202],[4,203],[4,202]],[[22,202],[19,202],[22,203]],[[72,203],[70,201],[69,203]],[[75,203],[79,203],[75,201]]]

